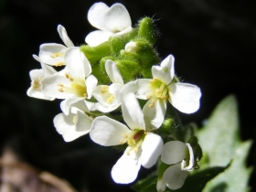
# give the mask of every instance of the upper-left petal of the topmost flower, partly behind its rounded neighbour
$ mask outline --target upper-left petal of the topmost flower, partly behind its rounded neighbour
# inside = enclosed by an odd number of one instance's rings
[[[91,5],[88,11],[87,18],[91,23],[91,26],[99,28],[101,30],[108,30],[104,22],[104,15],[109,10],[109,6],[102,2]]]

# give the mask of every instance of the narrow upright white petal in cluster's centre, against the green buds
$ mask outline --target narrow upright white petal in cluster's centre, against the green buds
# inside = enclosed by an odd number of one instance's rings
[[[105,63],[105,69],[107,71],[108,76],[112,80],[112,82],[119,83],[123,85],[123,78],[120,74],[119,69],[117,69],[115,63],[108,59]]]

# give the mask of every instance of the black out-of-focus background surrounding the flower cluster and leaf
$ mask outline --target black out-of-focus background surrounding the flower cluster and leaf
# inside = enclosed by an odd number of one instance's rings
[[[162,59],[176,58],[176,74],[201,88],[201,107],[184,123],[198,125],[230,93],[239,101],[242,140],[254,139],[256,3],[244,0],[119,1],[133,25],[154,16],[162,33],[156,45]],[[42,43],[62,43],[57,26],[66,27],[76,46],[94,30],[87,21],[91,0],[0,0],[0,146],[11,144],[23,161],[66,178],[78,190],[131,191],[112,182],[110,171],[122,153],[92,144],[89,136],[65,143],[52,119],[59,101],[28,98],[28,72]],[[115,1],[105,1],[107,5]],[[248,165],[256,162],[255,144]],[[140,176],[144,176],[143,169]],[[251,176],[252,191],[255,190]],[[253,186],[254,185],[254,186]]]

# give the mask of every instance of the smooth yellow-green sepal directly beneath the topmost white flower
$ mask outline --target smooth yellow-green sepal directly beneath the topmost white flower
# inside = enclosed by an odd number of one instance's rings
[[[110,55],[111,48],[109,46],[109,42],[101,43],[101,45],[97,47],[90,47],[89,45],[80,46],[80,50],[83,52],[85,57],[90,61],[91,65],[96,63],[101,58]]]

